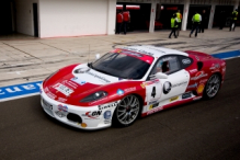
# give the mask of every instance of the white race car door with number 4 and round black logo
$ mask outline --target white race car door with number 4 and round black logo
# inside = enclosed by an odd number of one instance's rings
[[[185,92],[190,81],[190,73],[182,69],[178,55],[160,57],[152,68],[150,76],[156,75],[157,72],[165,73],[168,75],[168,78],[155,79],[156,82],[148,85],[149,89],[147,89],[147,96],[149,99],[147,100],[149,110],[181,100],[181,96],[179,95]],[[158,87],[158,90],[156,90],[158,100],[152,101],[150,98],[151,94],[155,93],[153,87],[156,87],[156,89]]]

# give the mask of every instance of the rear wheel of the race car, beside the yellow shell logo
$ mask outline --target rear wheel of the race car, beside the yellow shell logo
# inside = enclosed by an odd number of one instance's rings
[[[205,85],[204,98],[206,100],[215,98],[220,89],[220,84],[221,84],[220,76],[217,73],[212,75]]]

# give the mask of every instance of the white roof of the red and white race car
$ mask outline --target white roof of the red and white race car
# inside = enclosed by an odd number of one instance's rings
[[[136,53],[150,55],[150,56],[153,56],[153,57],[160,57],[160,56],[170,55],[170,54],[171,55],[176,54],[176,55],[188,56],[188,54],[180,52],[180,50],[164,48],[164,47],[156,47],[156,46],[151,46],[151,45],[126,46],[126,47],[123,47],[122,49],[133,50],[133,52],[136,52]]]

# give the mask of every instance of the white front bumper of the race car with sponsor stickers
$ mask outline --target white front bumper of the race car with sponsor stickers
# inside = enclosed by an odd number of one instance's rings
[[[57,121],[69,126],[93,130],[112,125],[112,116],[117,102],[95,106],[75,106],[55,101],[41,89],[41,104],[43,110]]]

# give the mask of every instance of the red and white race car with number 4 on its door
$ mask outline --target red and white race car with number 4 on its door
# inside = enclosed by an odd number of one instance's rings
[[[204,53],[127,46],[58,70],[43,82],[41,103],[48,115],[77,128],[128,126],[138,115],[214,98],[225,72],[224,60]]]

